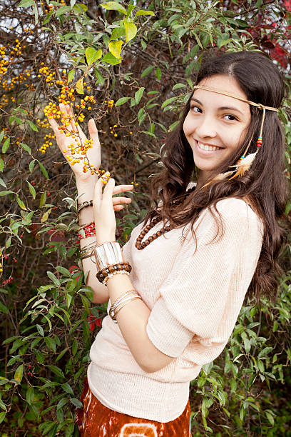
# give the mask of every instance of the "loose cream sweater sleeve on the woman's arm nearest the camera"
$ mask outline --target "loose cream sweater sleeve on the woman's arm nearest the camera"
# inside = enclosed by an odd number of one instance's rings
[[[195,344],[200,364],[212,361],[227,343],[262,246],[261,223],[250,206],[239,199],[223,199],[217,208],[223,236],[215,238],[215,218],[204,211],[196,242],[189,232],[146,326],[150,341],[168,356],[178,357],[188,343]],[[212,347],[216,352],[209,359]]]

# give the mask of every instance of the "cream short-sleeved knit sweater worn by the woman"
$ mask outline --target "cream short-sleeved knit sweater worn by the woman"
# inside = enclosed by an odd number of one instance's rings
[[[146,373],[133,358],[118,324],[104,318],[91,347],[88,383],[108,408],[172,421],[183,413],[190,381],[228,342],[260,256],[262,224],[240,199],[224,199],[217,206],[224,235],[214,242],[217,227],[207,209],[197,222],[197,246],[187,225],[184,231],[173,229],[138,251],[135,243],[142,223],[123,246],[124,259],[132,266],[133,287],[151,310],[148,337],[175,359],[160,371]],[[146,238],[162,226],[157,223]],[[184,243],[182,231],[187,234]]]

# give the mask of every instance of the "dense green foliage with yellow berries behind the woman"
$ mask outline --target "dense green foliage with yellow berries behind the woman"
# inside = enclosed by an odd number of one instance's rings
[[[146,214],[148,176],[203,54],[260,50],[286,77],[290,179],[291,1],[2,0],[0,10],[0,435],[77,436],[106,306],[84,286],[74,180],[46,114],[66,129],[63,101],[85,130],[93,117],[103,169],[135,185],[116,214],[122,243]],[[290,248],[277,302],[246,302],[225,352],[191,383],[193,436],[291,435]]]

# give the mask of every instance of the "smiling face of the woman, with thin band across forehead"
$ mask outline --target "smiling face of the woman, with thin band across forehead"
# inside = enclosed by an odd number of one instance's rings
[[[238,82],[230,76],[215,75],[200,81],[209,86],[247,99]],[[250,124],[250,106],[244,101],[213,91],[195,89],[183,131],[199,169],[198,186],[240,147]]]

